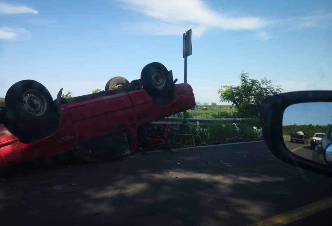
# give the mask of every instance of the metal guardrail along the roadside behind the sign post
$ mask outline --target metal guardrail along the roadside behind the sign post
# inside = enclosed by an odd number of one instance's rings
[[[231,122],[241,122],[248,120],[249,118],[222,118],[222,119],[217,119],[217,118],[187,118],[188,124],[189,125],[196,125],[197,121],[199,124],[207,124],[208,122],[213,122],[213,121],[231,121]],[[167,117],[162,118],[158,121],[151,122],[151,124],[158,124],[158,125],[163,125],[166,124]],[[180,125],[183,122],[183,118],[176,118],[176,117],[168,117],[168,124],[169,125]]]

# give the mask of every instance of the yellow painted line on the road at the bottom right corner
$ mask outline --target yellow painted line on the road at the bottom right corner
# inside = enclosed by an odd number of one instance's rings
[[[289,212],[259,221],[251,226],[280,226],[311,216],[332,207],[332,197],[322,199]]]

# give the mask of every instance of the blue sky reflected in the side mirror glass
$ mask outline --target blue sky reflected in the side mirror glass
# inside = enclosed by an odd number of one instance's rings
[[[285,109],[283,125],[332,124],[332,103],[314,102],[290,105]]]

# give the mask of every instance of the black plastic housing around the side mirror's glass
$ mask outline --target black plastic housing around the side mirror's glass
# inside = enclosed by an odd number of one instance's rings
[[[283,114],[285,109],[298,103],[332,102],[332,91],[298,91],[269,96],[259,106],[260,122],[266,145],[279,159],[291,165],[318,173],[332,175],[330,166],[321,165],[290,152],[283,139]]]

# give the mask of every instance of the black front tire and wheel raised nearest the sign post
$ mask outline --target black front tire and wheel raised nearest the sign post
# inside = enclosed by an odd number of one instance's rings
[[[149,95],[165,95],[173,91],[170,90],[173,81],[170,81],[167,68],[158,62],[149,63],[143,67],[141,82],[143,89],[145,89]]]

